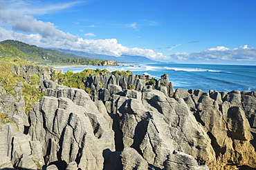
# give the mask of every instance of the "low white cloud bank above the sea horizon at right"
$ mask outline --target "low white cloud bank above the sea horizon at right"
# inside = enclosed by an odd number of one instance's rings
[[[183,61],[256,61],[256,48],[249,48],[248,45],[234,49],[218,46],[191,54],[176,52],[170,55],[170,58]]]

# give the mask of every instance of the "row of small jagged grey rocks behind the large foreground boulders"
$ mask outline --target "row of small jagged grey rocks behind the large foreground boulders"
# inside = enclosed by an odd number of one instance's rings
[[[118,94],[125,89],[134,89],[141,92],[143,89],[158,89],[166,96],[173,96],[174,88],[172,82],[169,81],[169,76],[164,74],[160,80],[149,78],[146,75],[122,75],[113,73],[90,75],[84,86],[91,89],[92,100],[107,101],[111,98],[112,94]]]

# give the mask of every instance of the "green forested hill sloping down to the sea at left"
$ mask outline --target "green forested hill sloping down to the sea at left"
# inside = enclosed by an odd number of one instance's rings
[[[84,56],[44,49],[28,45],[21,41],[6,40],[0,42],[0,56],[16,57],[42,65],[117,65],[116,61],[90,59]]]

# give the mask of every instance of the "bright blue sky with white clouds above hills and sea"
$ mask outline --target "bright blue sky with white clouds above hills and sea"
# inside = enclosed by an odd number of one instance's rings
[[[0,41],[176,63],[256,65],[255,9],[255,0],[0,0]]]

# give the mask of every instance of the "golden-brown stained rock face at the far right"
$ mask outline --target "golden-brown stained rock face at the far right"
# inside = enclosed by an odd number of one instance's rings
[[[210,137],[216,155],[211,169],[229,169],[232,165],[256,168],[256,138],[253,137],[256,98],[253,93],[176,89],[174,96],[185,100]]]

